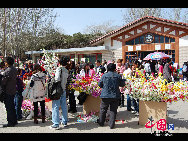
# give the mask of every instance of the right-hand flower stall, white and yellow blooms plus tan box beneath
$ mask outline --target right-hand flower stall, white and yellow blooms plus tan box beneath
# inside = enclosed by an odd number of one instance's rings
[[[140,78],[128,77],[125,88],[133,98],[139,99],[139,124],[145,125],[152,116],[154,122],[167,119],[167,102],[188,101],[188,82],[167,83],[163,77],[150,76],[146,80],[137,70]]]

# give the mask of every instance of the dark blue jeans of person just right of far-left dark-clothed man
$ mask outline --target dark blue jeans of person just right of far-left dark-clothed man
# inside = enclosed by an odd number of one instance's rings
[[[15,104],[15,109],[16,109],[16,116],[17,119],[22,119],[22,101],[23,101],[23,96],[22,93],[16,92],[16,95],[14,97],[14,104]]]

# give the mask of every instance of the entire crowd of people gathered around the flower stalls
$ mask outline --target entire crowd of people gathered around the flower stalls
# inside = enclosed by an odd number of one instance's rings
[[[23,66],[22,69],[16,69],[12,57],[7,57],[4,62],[0,64],[0,86],[4,93],[4,104],[8,121],[8,124],[3,125],[3,127],[14,127],[18,124],[19,120],[23,120],[21,106],[25,80],[31,81],[29,87],[32,89],[32,92],[30,92],[29,99],[34,105],[34,124],[39,123],[38,102],[41,106],[42,123],[45,123],[45,97],[47,97],[45,83],[47,73],[42,66],[33,64],[31,61],[24,62]],[[56,69],[55,80],[61,81],[63,93],[60,99],[52,100],[53,125],[51,128],[59,129],[60,107],[62,109],[61,123],[64,127],[67,126],[68,112],[77,112],[74,90],[68,89],[68,85],[76,74],[80,74],[83,77],[89,77],[94,74],[102,75],[98,84],[99,87],[102,88],[100,96],[102,102],[100,105],[98,124],[100,126],[104,125],[106,113],[110,106],[109,126],[111,129],[114,128],[118,106],[124,107],[125,90],[122,87],[125,85],[126,76],[139,77],[136,69],[141,70],[141,72],[145,74],[146,79],[148,79],[150,75],[157,77],[159,73],[161,73],[168,82],[174,80],[174,73],[177,72],[177,68],[173,66],[171,59],[159,61],[142,61],[139,59],[132,62],[127,60],[125,63],[123,63],[123,59],[118,59],[117,62],[107,62],[104,60],[104,63],[100,62],[100,60],[96,60],[94,65],[84,62],[75,64],[74,61],[62,57]],[[186,73],[185,78],[187,78],[187,74],[188,73]],[[69,99],[69,109],[67,106],[67,97]],[[127,94],[127,110],[131,111],[132,114],[139,115],[139,100],[131,98],[129,94]]]

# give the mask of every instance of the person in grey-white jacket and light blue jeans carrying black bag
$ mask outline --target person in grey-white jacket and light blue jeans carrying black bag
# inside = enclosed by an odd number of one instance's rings
[[[53,125],[50,126],[51,129],[58,130],[60,119],[59,119],[59,107],[61,106],[62,109],[62,121],[61,123],[64,125],[64,127],[67,126],[68,122],[68,108],[67,108],[67,102],[66,102],[66,83],[68,78],[68,70],[65,68],[65,66],[68,63],[68,58],[62,57],[60,59],[60,66],[56,69],[55,73],[55,81],[61,81],[61,86],[63,89],[63,93],[59,100],[52,100],[52,122]]]

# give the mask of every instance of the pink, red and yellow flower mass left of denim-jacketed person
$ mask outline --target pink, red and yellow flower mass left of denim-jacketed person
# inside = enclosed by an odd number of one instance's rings
[[[69,89],[74,89],[75,91],[85,92],[94,97],[98,97],[101,94],[101,88],[98,86],[98,82],[101,75],[95,74],[92,77],[83,77],[80,74],[75,76],[73,83],[69,85]]]

